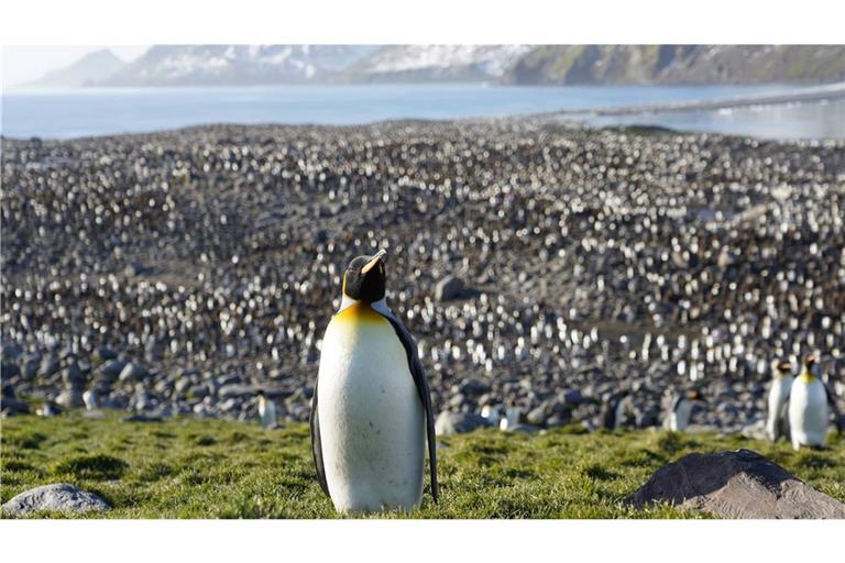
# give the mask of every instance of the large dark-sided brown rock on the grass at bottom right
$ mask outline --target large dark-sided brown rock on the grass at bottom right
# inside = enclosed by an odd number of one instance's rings
[[[845,504],[749,450],[693,453],[655,473],[628,503],[669,501],[722,518],[845,518]]]

